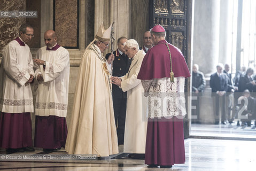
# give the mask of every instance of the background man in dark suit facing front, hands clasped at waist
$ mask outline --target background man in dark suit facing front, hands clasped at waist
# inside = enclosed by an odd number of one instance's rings
[[[210,79],[215,113],[215,124],[219,124],[219,114],[221,114],[221,123],[227,124],[225,94],[228,90],[228,78],[227,75],[222,72],[223,64],[218,64],[216,68],[217,72],[212,74]]]

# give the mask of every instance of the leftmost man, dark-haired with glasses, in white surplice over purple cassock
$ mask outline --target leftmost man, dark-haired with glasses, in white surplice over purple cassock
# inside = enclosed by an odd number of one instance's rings
[[[34,81],[33,59],[27,45],[34,29],[23,24],[19,36],[3,49],[0,67],[0,147],[7,153],[35,151],[32,147],[34,112],[30,83]]]

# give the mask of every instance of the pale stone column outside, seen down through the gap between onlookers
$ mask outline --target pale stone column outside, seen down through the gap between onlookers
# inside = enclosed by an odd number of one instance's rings
[[[209,74],[216,72],[215,66],[219,63],[220,2],[195,0],[194,7],[192,64],[198,64],[206,75],[206,89],[199,99],[200,122],[203,123],[215,122]]]

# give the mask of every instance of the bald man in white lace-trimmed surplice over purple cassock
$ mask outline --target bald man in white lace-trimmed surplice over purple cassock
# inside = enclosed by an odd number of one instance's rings
[[[44,33],[44,43],[34,59],[38,84],[34,146],[53,151],[65,147],[67,137],[69,53],[58,45],[53,30]]]

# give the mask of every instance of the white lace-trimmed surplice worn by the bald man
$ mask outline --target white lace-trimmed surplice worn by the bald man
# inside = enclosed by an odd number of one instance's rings
[[[55,115],[66,117],[68,105],[69,53],[59,47],[46,50],[46,46],[37,51],[36,58],[46,61],[45,69],[37,66],[35,75],[43,75],[44,81],[38,83],[35,103],[35,115]],[[37,81],[38,82],[38,81]]]

